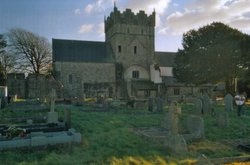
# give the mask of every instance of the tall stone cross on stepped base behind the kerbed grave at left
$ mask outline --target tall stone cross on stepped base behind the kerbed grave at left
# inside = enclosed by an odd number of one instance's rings
[[[47,123],[57,123],[58,113],[55,112],[56,91],[52,88],[49,94],[50,112],[48,112]]]

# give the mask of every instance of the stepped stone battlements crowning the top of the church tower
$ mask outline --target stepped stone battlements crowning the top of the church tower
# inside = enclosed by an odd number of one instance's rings
[[[105,18],[105,32],[109,30],[114,24],[129,24],[139,26],[155,26],[155,12],[151,15],[147,15],[144,11],[134,14],[131,9],[126,9],[121,13],[117,7],[114,7],[114,11],[111,12],[110,16]]]

